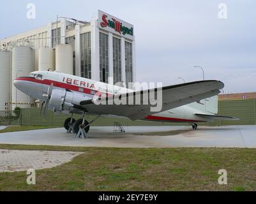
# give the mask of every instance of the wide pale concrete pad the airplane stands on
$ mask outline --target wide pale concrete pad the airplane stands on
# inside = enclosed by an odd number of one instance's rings
[[[0,143],[73,147],[238,147],[256,148],[256,126],[132,126],[126,133],[113,127],[91,127],[89,138],[75,139],[64,128],[0,134]]]

